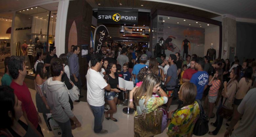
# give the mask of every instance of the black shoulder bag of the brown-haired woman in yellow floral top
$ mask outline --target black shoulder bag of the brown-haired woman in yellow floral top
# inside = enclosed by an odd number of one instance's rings
[[[194,129],[193,129],[193,134],[196,136],[203,136],[209,131],[208,117],[204,113],[203,105],[202,105],[201,101],[198,99],[196,99],[196,101],[199,104],[200,115],[195,123]]]

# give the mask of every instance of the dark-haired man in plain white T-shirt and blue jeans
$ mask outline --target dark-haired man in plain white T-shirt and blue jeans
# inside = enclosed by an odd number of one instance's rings
[[[91,68],[87,71],[87,102],[94,115],[94,132],[105,134],[108,130],[102,129],[104,115],[104,89],[110,90],[110,85],[106,83],[99,71],[102,67],[102,55],[92,54]]]

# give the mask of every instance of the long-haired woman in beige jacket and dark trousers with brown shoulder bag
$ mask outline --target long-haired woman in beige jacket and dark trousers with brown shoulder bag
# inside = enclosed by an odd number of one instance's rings
[[[223,99],[221,99],[221,103],[217,109],[216,112],[216,121],[213,123],[211,122],[211,125],[216,127],[216,129],[212,132],[208,132],[210,135],[217,135],[218,132],[221,129],[222,122],[223,122],[223,117],[219,115],[220,109],[224,105],[228,109],[233,109],[232,104],[234,101],[234,96],[238,87],[238,78],[239,78],[239,69],[237,67],[231,69],[230,72],[230,80],[228,82],[224,81],[224,89],[222,90],[222,96]]]

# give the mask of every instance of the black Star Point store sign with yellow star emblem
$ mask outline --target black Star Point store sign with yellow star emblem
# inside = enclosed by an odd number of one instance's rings
[[[97,23],[138,24],[138,9],[98,8]]]

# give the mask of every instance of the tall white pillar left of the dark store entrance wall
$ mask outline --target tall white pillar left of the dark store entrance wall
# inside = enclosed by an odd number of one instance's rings
[[[59,1],[55,29],[55,47],[57,56],[59,56],[62,53],[65,53],[65,36],[68,8],[69,0]]]

